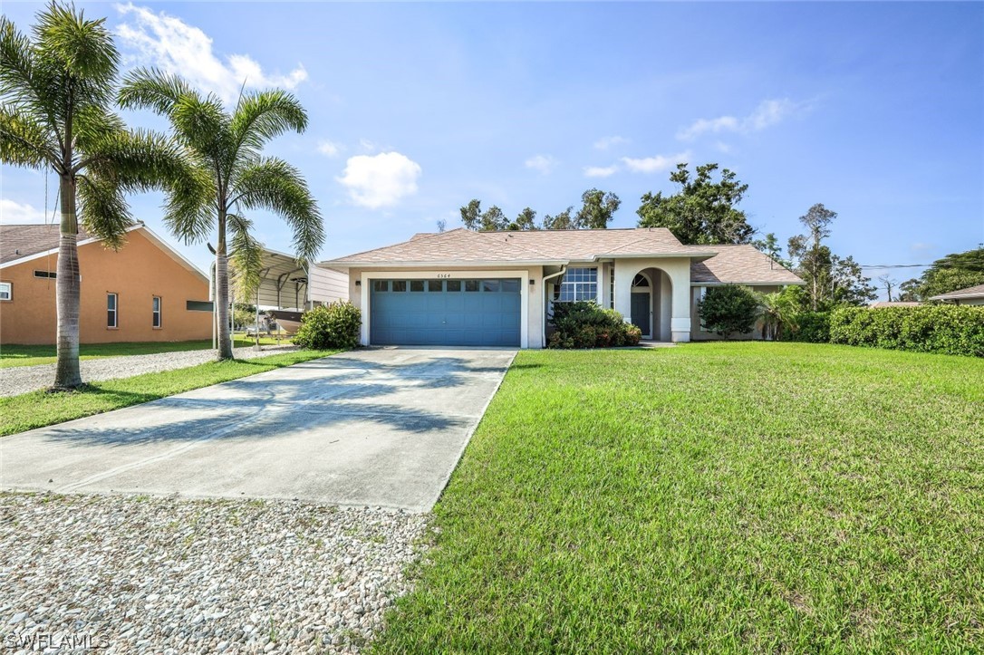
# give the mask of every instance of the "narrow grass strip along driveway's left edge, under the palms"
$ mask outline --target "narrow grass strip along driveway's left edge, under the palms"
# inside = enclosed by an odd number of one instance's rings
[[[257,359],[210,362],[185,369],[92,383],[68,393],[31,391],[0,398],[0,437],[163,398],[194,388],[245,378],[327,357],[332,351],[296,350]]]

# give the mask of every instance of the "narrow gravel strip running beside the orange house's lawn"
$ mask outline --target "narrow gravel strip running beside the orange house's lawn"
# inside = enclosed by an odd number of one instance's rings
[[[297,350],[293,345],[263,346],[263,350],[252,347],[235,348],[236,359],[267,357]],[[122,357],[102,357],[82,360],[82,379],[86,382],[130,378],[144,373],[157,373],[183,369],[205,364],[215,359],[215,350],[185,350],[181,352],[160,352],[154,355],[126,355]],[[19,395],[38,388],[50,387],[55,379],[55,364],[39,366],[12,366],[0,369],[0,396]]]

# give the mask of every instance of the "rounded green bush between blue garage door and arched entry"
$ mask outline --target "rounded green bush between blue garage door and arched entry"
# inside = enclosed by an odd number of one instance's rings
[[[643,331],[615,310],[591,302],[554,303],[550,348],[610,348],[638,345]]]

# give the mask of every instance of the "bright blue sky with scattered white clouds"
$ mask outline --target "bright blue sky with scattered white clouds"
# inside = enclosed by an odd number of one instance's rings
[[[984,242],[981,3],[79,6],[128,65],[297,94],[310,128],[270,152],[314,190],[323,258],[456,227],[472,198],[542,216],[597,187],[633,226],[678,160],[736,171],[741,208],[782,243],[815,203],[839,213],[833,251],[863,264]],[[39,7],[4,12],[26,30]],[[43,176],[4,167],[2,198],[6,222],[39,220]],[[159,197],[132,204],[166,235]],[[254,218],[289,250],[275,216]],[[181,248],[208,266],[204,245]]]

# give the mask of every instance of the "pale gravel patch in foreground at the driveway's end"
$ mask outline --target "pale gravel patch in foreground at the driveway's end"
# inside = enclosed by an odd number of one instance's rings
[[[0,651],[74,639],[106,654],[358,652],[406,592],[426,521],[289,501],[0,494]]]

